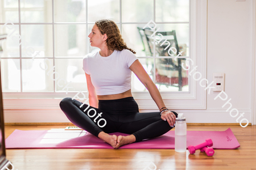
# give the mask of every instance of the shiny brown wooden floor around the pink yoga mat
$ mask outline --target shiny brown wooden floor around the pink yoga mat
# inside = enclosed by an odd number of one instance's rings
[[[6,125],[6,138],[15,130],[48,130],[58,126]],[[256,170],[256,126],[188,126],[188,130],[226,130],[231,128],[241,147],[214,150],[213,156],[200,151],[189,154],[159,149],[26,149],[6,150],[15,170],[65,169],[143,169],[150,162],[156,169],[254,169]],[[150,168],[146,168],[150,170]],[[151,169],[155,169],[151,165]]]

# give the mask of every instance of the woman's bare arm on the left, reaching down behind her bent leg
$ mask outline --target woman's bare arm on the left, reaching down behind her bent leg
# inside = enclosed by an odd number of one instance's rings
[[[94,108],[98,108],[98,97],[96,94],[96,90],[92,84],[92,80],[90,79],[90,75],[86,74],[86,83],[87,83],[87,89],[88,89],[88,97],[89,97],[89,104],[90,106]]]

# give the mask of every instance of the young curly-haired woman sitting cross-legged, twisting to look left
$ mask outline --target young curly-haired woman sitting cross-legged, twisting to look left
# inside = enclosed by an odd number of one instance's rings
[[[91,46],[100,48],[83,60],[89,105],[66,97],[60,102],[60,108],[68,119],[113,148],[159,137],[174,128],[177,113],[165,107],[158,88],[134,50],[126,46],[117,24],[108,19],[98,20],[88,37]],[[131,71],[150,92],[159,112],[139,113],[131,95]],[[109,135],[113,132],[130,135]]]

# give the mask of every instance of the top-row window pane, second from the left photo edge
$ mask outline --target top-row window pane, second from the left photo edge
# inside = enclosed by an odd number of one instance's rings
[[[52,1],[20,0],[20,20],[22,23],[51,23]]]

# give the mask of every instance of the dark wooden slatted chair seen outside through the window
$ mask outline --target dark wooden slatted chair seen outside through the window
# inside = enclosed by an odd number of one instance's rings
[[[139,34],[141,35],[142,44],[144,46],[143,51],[146,53],[146,56],[154,56],[154,37],[151,37],[154,31],[147,28],[137,28]],[[163,40],[160,41],[159,44],[155,42],[156,57],[169,56],[168,49],[170,49],[172,46],[176,48],[177,52],[175,54],[171,51],[170,52],[171,54],[174,54],[174,56],[177,56],[177,54],[180,52],[180,48],[177,44],[175,30],[168,32],[156,32],[156,35],[158,35],[158,33],[163,35]],[[170,42],[170,46],[168,46],[168,42],[165,42],[162,46],[160,46],[164,40]],[[167,46],[168,48],[164,50]],[[185,50],[182,53],[182,56],[184,55]],[[174,58],[156,58],[156,83],[165,84],[166,86],[179,87],[179,91],[182,91],[182,87],[188,85],[187,71],[182,70],[182,62],[185,63],[185,58],[177,58],[176,61]],[[152,71],[153,70],[151,70],[151,73]]]

